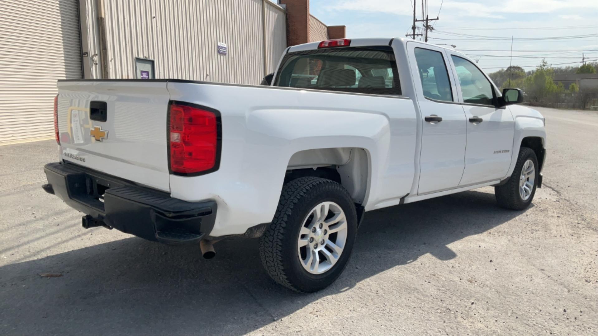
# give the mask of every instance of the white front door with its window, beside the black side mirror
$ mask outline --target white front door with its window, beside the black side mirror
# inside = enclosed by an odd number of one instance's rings
[[[460,186],[502,179],[511,165],[515,123],[506,107],[496,108],[496,91],[474,65],[451,54],[467,119],[465,171]]]

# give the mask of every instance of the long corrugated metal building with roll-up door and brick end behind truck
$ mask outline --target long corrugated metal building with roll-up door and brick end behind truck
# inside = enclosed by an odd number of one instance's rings
[[[345,32],[309,0],[2,0],[0,13],[0,145],[53,138],[59,79],[260,84],[288,45]]]

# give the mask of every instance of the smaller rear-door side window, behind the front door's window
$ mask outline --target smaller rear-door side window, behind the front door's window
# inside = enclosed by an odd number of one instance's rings
[[[415,59],[419,78],[422,80],[423,95],[430,99],[453,101],[449,72],[439,51],[415,48]]]

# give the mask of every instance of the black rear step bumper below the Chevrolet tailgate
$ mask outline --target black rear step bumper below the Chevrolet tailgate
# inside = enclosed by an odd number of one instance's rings
[[[214,226],[215,201],[179,200],[70,163],[48,163],[44,172],[48,184],[42,188],[88,215],[84,227],[93,222],[155,242],[192,243]]]

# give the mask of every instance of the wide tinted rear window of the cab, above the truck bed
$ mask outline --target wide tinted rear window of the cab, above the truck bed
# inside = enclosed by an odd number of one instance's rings
[[[344,47],[286,54],[274,86],[401,94],[390,47]]]

